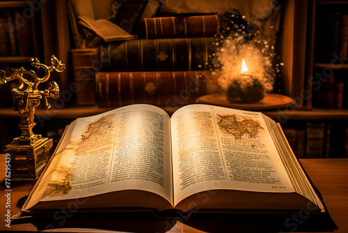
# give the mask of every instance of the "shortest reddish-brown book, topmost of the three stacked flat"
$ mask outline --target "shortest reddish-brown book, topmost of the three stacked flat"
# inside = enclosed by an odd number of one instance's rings
[[[146,18],[146,38],[198,38],[219,33],[218,15]]]

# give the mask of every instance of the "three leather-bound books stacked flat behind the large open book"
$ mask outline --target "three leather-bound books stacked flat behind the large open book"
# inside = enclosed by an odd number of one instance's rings
[[[108,43],[96,73],[100,107],[150,103],[173,107],[212,92],[217,75],[214,35],[217,15],[145,18],[146,37]]]

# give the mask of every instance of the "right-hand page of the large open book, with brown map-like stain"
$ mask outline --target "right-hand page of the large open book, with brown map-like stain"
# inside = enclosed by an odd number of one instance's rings
[[[175,205],[214,189],[294,192],[260,112],[188,105],[171,131]]]

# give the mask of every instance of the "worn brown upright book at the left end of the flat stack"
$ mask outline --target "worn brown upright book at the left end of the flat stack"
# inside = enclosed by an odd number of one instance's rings
[[[99,49],[72,49],[72,70],[77,84],[77,105],[95,105],[95,73],[93,63],[98,61]]]

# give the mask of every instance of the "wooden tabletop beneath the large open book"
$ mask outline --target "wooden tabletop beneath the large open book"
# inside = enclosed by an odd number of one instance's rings
[[[5,174],[4,155],[0,155],[0,177]],[[342,159],[301,159],[311,181],[322,194],[332,219],[338,226],[333,232],[348,232],[348,158]],[[1,179],[0,178],[0,179]],[[11,214],[19,211],[34,182],[11,183]],[[0,230],[52,232],[325,232],[315,227],[315,219],[306,214],[292,213],[288,216],[267,214],[201,214],[187,219],[155,218],[147,216],[100,215],[74,218],[64,210],[45,219],[15,220],[10,228],[4,221],[6,213],[5,187],[0,186]],[[317,223],[320,224],[320,220]],[[310,223],[309,225],[307,223]],[[307,224],[307,226],[306,226]],[[303,227],[305,226],[305,227]],[[308,227],[309,226],[309,227]],[[304,230],[303,230],[304,229]]]

